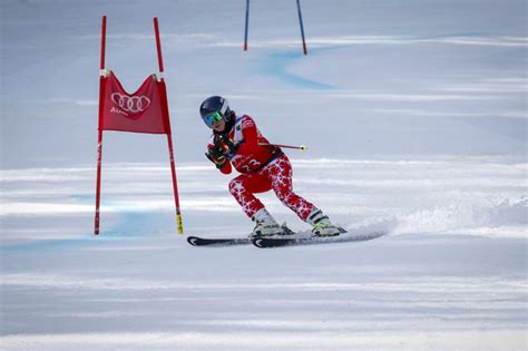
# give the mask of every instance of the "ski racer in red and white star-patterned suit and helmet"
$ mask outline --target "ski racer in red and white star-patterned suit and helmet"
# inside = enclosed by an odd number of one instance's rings
[[[239,173],[229,182],[229,192],[244,213],[256,223],[252,235],[287,233],[254,196],[271,189],[285,206],[313,226],[313,234],[340,234],[340,228],[321,209],[294,193],[290,159],[280,147],[270,145],[252,117],[236,116],[229,109],[227,100],[221,96],[204,100],[199,113],[205,124],[213,129],[207,145],[207,158],[224,174],[231,174],[233,168]]]

